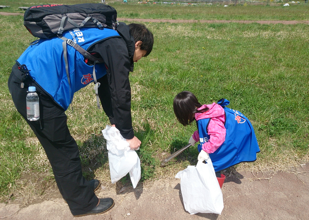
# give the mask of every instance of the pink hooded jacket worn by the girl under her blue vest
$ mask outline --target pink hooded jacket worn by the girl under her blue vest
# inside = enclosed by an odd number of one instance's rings
[[[216,103],[210,105],[203,105],[201,108],[198,109],[203,109],[205,107],[209,108],[209,110],[203,113],[195,113],[195,119],[200,120],[205,118],[211,118],[208,125],[208,134],[210,136],[210,139],[208,142],[205,142],[203,144],[202,149],[207,153],[214,153],[225,141],[225,114],[224,109]],[[196,142],[200,140],[198,131],[195,131],[192,136]]]

